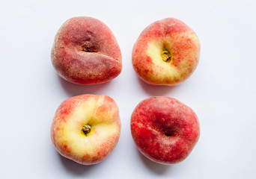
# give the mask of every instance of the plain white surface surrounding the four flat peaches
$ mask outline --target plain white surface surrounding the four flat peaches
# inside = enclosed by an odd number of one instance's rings
[[[256,178],[255,9],[247,0],[0,0],[0,178]],[[73,16],[92,16],[113,31],[123,57],[118,78],[79,86],[58,77],[50,51]],[[166,17],[181,19],[201,41],[198,68],[177,87],[145,84],[131,63],[141,31]],[[122,123],[115,150],[94,166],[61,157],[50,139],[58,105],[84,93],[114,98]],[[177,165],[147,160],[132,141],[132,110],[152,95],[177,98],[198,114],[201,137]]]

